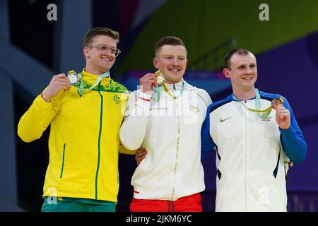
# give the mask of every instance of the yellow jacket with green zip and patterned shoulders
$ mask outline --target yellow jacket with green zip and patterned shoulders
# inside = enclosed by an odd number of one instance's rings
[[[96,78],[84,69],[84,88]],[[123,85],[107,77],[81,96],[71,86],[51,102],[35,98],[19,121],[18,136],[34,141],[51,124],[43,196],[117,202],[119,128],[128,97]]]

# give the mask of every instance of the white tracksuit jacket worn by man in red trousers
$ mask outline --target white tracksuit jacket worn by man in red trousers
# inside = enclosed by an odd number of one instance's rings
[[[147,150],[131,179],[134,198],[175,201],[205,189],[200,133],[211,97],[185,81],[167,87],[176,99],[163,89],[150,102],[137,98],[147,96],[140,90],[129,97],[120,140]]]

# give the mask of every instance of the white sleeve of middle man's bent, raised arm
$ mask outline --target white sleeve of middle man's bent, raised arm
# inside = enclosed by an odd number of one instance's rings
[[[139,95],[141,98],[138,98]],[[130,94],[125,119],[119,131],[120,141],[129,150],[138,149],[146,135],[151,102],[143,100],[143,97],[146,97],[146,94],[137,91]]]

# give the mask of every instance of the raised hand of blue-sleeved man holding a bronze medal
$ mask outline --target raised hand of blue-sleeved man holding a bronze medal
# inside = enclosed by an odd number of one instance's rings
[[[273,99],[271,106],[276,110],[276,122],[281,129],[288,129],[290,126],[290,112],[283,106],[283,98]]]

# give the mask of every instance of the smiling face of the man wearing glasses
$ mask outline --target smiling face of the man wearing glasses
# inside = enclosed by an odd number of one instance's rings
[[[100,44],[107,46],[109,49],[98,49],[98,45]],[[116,44],[117,41],[110,36],[95,36],[93,42],[89,44],[89,47],[84,47],[83,49],[86,58],[86,71],[96,75],[110,71],[110,68],[114,65],[116,59],[110,49],[116,48]]]

